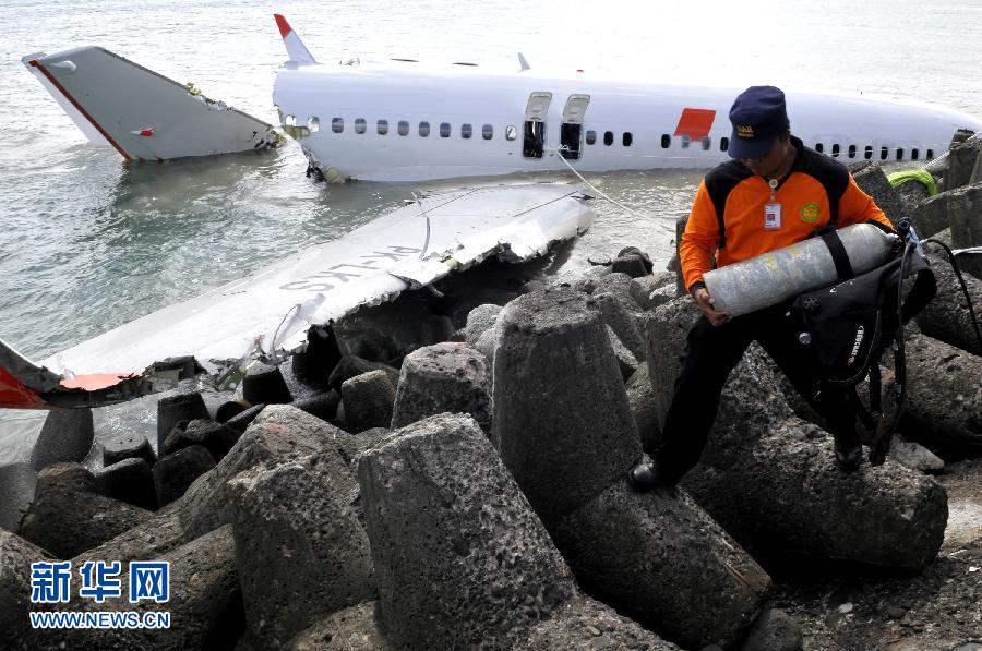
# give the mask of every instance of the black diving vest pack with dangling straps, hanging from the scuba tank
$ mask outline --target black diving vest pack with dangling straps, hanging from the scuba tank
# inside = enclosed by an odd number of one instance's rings
[[[819,390],[848,389],[863,423],[876,427],[870,461],[883,463],[889,449],[903,402],[906,360],[902,324],[917,315],[934,298],[934,273],[918,251],[917,236],[908,224],[899,226],[903,242],[883,265],[853,275],[846,251],[834,229],[819,233],[829,245],[839,279],[819,289],[800,294],[791,304],[791,320],[799,342],[812,353]],[[912,236],[912,237],[911,237]],[[917,279],[905,300],[903,278]],[[889,424],[882,419],[879,360],[887,348],[894,349],[897,405]],[[870,377],[870,410],[855,397],[855,385]]]

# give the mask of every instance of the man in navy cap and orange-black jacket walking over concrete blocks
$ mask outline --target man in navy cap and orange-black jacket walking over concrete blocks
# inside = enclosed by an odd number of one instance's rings
[[[714,252],[721,267],[800,242],[828,225],[869,221],[890,232],[893,227],[841,164],[791,135],[779,88],[747,88],[733,103],[730,121],[728,153],[735,160],[703,179],[680,245],[685,287],[703,315],[688,333],[661,447],[631,470],[636,490],[675,484],[698,462],[727,376],[754,340],[826,419],[836,465],[852,471],[862,462],[855,407],[845,391],[817,391],[787,320],[788,305],[731,318],[715,309],[703,274],[712,268]]]

